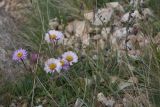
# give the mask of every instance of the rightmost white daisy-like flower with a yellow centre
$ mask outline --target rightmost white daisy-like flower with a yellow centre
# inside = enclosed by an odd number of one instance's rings
[[[73,65],[73,63],[78,62],[77,54],[72,51],[65,52],[62,55],[62,58],[65,59],[70,65]]]

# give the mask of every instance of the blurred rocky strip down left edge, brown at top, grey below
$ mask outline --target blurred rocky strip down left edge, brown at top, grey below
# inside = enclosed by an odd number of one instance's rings
[[[12,61],[13,50],[22,43],[17,35],[18,26],[25,20],[22,12],[27,11],[22,4],[18,0],[0,1],[0,85],[6,80],[15,80],[22,71]]]

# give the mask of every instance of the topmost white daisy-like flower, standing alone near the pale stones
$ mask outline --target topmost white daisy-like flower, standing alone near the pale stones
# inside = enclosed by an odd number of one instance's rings
[[[54,43],[63,38],[63,34],[60,31],[50,30],[45,34],[45,40],[48,43]]]

